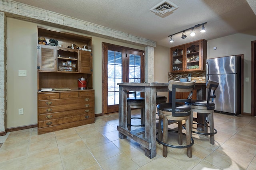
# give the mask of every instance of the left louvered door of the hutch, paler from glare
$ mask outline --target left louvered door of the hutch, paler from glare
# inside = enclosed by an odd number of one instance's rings
[[[51,45],[38,45],[38,70],[57,71],[57,48]]]

